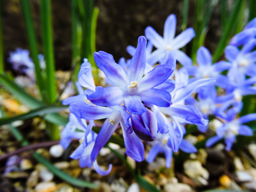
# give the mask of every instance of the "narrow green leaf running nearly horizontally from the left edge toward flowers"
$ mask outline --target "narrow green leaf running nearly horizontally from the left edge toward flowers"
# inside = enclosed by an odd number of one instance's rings
[[[0,126],[5,125],[5,124],[9,124],[9,123],[12,123],[12,122],[18,121],[18,120],[24,120],[24,119],[29,119],[29,118],[36,117],[36,116],[43,116],[45,114],[56,113],[56,112],[59,112],[59,111],[63,111],[64,109],[67,109],[67,107],[66,106],[44,106],[44,107],[40,107],[38,109],[34,109],[32,111],[29,111],[28,113],[25,113],[25,114],[0,119]]]

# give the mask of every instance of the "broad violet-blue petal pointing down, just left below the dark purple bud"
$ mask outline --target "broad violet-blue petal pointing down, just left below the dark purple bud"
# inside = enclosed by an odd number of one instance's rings
[[[126,147],[126,154],[137,162],[144,160],[144,145],[142,141],[133,132],[128,134],[126,132],[126,126],[121,120],[121,128],[123,130],[123,140]]]

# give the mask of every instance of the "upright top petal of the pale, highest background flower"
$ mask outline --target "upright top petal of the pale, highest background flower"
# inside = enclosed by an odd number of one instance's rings
[[[171,14],[167,17],[164,23],[164,39],[166,42],[170,43],[176,33],[176,17],[175,14]]]

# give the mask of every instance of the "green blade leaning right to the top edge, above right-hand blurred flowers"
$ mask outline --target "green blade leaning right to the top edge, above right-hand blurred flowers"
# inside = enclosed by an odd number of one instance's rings
[[[242,0],[236,0],[231,11],[231,14],[228,18],[227,24],[225,25],[222,37],[220,38],[220,42],[218,43],[218,47],[216,48],[216,52],[213,55],[213,63],[215,63],[220,56],[223,54],[226,45],[228,44],[228,39],[232,33],[232,30],[235,27],[235,23],[237,22],[238,12],[241,6]]]

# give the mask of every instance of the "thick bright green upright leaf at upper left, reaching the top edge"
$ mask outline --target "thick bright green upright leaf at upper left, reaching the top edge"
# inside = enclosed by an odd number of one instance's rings
[[[56,100],[57,86],[55,80],[55,63],[52,40],[52,18],[50,0],[41,0],[40,9],[43,32],[43,49],[45,55],[47,103],[52,104]]]

